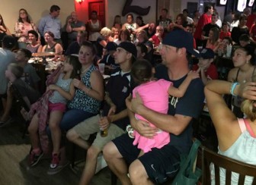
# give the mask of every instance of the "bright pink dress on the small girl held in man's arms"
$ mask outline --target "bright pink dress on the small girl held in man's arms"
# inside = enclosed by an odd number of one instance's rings
[[[142,98],[143,104],[154,111],[167,114],[168,112],[168,88],[172,86],[172,83],[167,80],[150,81],[143,83],[140,86],[136,86],[133,89],[133,97],[136,97],[136,92]],[[136,119],[147,121],[139,114],[135,114]],[[149,122],[149,121],[148,121]],[[155,127],[154,124],[149,123],[150,127]],[[158,134],[153,139],[141,136],[136,130],[134,130],[135,140],[133,145],[138,144],[138,149],[142,149],[143,152],[149,152],[152,148],[161,149],[170,142],[170,133],[159,130]]]

